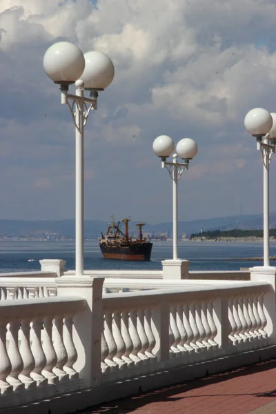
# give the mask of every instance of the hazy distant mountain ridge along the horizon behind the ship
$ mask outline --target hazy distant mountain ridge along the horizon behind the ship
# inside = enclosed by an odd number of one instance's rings
[[[130,221],[130,231],[136,231],[135,219]],[[108,221],[86,220],[84,222],[84,237],[95,238],[106,232]],[[244,230],[259,230],[263,228],[262,215],[239,215],[230,217],[217,217],[213,219],[197,219],[190,221],[179,221],[178,231],[190,235],[203,230],[233,230],[235,228]],[[276,213],[270,214],[270,228],[276,228]],[[146,233],[172,233],[172,222],[159,224],[146,224]],[[0,219],[0,237],[45,237],[46,234],[61,235],[66,238],[75,237],[75,219],[64,220],[6,220]]]

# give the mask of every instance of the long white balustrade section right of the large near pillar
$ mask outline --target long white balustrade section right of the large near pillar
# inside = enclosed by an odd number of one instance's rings
[[[127,378],[144,373],[145,364],[151,364],[148,372],[152,372],[159,370],[160,364],[179,366],[260,348],[268,337],[264,296],[270,288],[269,284],[237,282],[204,288],[190,285],[181,290],[108,293],[103,296],[102,372],[111,375],[107,366],[113,373],[124,366],[118,378]],[[228,302],[228,310],[222,316],[215,305],[219,297]],[[168,303],[168,316],[162,320],[167,325],[161,338],[161,325],[155,325],[164,302]],[[220,326],[224,326],[222,331]]]

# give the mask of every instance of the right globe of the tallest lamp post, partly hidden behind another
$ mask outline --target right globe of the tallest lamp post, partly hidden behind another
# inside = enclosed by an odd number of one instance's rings
[[[114,78],[112,60],[101,52],[87,52],[84,54],[86,68],[81,75],[85,89],[103,90],[110,85]]]

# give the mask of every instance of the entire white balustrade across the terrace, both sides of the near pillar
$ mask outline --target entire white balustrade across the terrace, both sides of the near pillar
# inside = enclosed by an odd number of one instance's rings
[[[47,274],[0,277],[0,408],[275,344],[268,282],[111,277],[94,300],[89,277]],[[67,296],[73,284],[79,297]]]

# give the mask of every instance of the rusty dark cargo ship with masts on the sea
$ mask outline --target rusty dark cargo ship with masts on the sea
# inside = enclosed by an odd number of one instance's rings
[[[152,243],[148,242],[142,234],[142,227],[145,224],[136,224],[139,227],[139,238],[132,239],[128,234],[128,221],[130,219],[122,219],[121,221],[125,224],[125,233],[119,228],[120,221],[115,223],[113,216],[106,235],[104,236],[101,233],[99,247],[104,259],[137,260],[141,262],[150,260]]]

